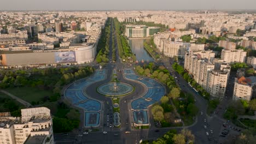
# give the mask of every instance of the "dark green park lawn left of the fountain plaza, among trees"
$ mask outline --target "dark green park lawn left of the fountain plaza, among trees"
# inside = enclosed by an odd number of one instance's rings
[[[45,96],[50,97],[53,95],[53,92],[42,90],[37,87],[10,87],[5,88],[5,91],[27,101],[28,103],[32,103],[32,101],[41,101]]]

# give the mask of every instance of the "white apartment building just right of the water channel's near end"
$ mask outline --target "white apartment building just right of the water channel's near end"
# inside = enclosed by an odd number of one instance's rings
[[[161,45],[164,55],[167,57],[185,58],[185,54],[189,50],[190,43],[174,42],[171,40],[164,40]]]

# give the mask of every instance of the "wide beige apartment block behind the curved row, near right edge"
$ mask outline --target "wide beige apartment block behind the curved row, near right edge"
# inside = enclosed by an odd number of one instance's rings
[[[221,59],[223,59],[227,63],[245,62],[246,51],[243,51],[242,49],[238,49],[238,50],[224,49],[222,50]]]

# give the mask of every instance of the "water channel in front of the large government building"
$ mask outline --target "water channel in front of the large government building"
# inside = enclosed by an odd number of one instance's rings
[[[146,49],[144,49],[143,43],[145,39],[129,39],[129,45],[132,53],[135,53],[136,60],[141,62],[152,62],[154,59],[149,55]]]

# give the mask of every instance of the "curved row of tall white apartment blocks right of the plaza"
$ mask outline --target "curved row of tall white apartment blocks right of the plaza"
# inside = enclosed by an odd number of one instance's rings
[[[208,61],[208,59],[214,58],[214,55],[201,55],[203,52],[187,53],[184,68],[212,97],[222,99],[225,94],[230,67],[223,63],[219,64],[219,68],[216,69],[215,65]]]

